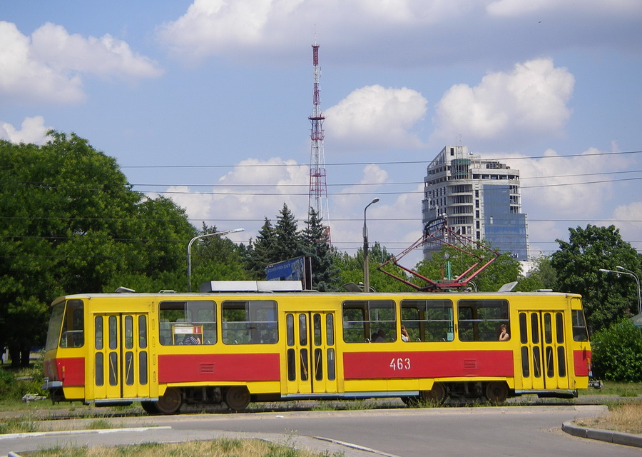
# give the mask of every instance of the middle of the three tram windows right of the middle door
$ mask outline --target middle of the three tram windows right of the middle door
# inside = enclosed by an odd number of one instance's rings
[[[454,325],[450,300],[403,300],[401,321],[409,341],[453,341]]]

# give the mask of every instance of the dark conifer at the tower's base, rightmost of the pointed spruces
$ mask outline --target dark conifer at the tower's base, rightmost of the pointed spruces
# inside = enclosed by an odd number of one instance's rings
[[[310,258],[312,288],[316,291],[337,290],[339,268],[335,265],[327,230],[315,209],[310,208],[310,219],[301,233],[304,256]]]

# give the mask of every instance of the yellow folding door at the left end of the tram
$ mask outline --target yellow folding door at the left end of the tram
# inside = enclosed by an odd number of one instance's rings
[[[148,316],[93,317],[93,389],[97,401],[149,397]]]

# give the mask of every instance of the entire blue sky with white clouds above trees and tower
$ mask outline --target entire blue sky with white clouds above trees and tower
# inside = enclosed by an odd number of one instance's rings
[[[315,39],[338,249],[374,196],[370,241],[419,238],[457,141],[520,170],[532,254],[586,224],[642,249],[639,0],[3,0],[0,138],[73,131],[234,241],[302,227]]]

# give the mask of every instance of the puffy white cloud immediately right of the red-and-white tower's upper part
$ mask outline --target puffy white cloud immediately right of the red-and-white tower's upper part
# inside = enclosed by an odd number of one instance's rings
[[[428,101],[412,89],[366,86],[325,111],[328,139],[365,149],[421,147],[412,131]]]

